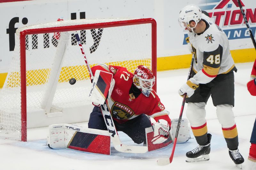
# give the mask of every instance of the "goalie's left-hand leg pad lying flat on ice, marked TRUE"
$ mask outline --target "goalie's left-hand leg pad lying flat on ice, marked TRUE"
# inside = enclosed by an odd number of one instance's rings
[[[110,137],[106,130],[84,128],[70,124],[49,126],[47,144],[52,149],[73,149],[110,155]]]

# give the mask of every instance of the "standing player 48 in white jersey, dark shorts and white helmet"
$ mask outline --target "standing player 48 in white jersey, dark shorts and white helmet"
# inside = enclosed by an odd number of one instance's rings
[[[186,115],[199,144],[187,152],[187,162],[209,160],[211,134],[207,131],[205,105],[212,97],[222,126],[228,152],[236,166],[242,167],[244,158],[238,150],[238,133],[232,108],[234,107],[234,72],[228,38],[211,18],[202,14],[196,5],[180,11],[179,23],[188,29],[194,63],[191,78],[180,87],[179,94],[187,93]],[[187,40],[188,41],[188,40]]]

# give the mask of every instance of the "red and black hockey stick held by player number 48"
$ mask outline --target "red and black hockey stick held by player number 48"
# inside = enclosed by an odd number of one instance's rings
[[[191,76],[191,68],[192,68],[193,62],[194,62],[194,54],[192,55],[192,59],[191,59],[191,63],[190,63],[189,71],[188,71],[188,79]],[[181,108],[180,108],[180,116],[179,116],[179,121],[178,121],[177,129],[176,129],[176,133],[175,133],[175,138],[174,138],[174,142],[173,142],[173,146],[172,146],[172,154],[169,158],[158,159],[157,160],[157,165],[163,166],[163,165],[168,165],[168,164],[172,163],[172,159],[173,159],[173,155],[174,155],[174,151],[175,151],[175,147],[176,147],[176,143],[177,143],[177,138],[178,138],[178,134],[179,134],[180,122],[181,122],[182,113],[183,113],[183,110],[184,110],[186,96],[187,96],[187,93],[185,93],[184,96],[183,96],[182,105],[181,105]]]

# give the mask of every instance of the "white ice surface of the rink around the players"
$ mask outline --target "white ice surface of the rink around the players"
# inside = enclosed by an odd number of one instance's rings
[[[239,137],[239,151],[244,156],[246,166],[249,154],[250,137],[256,117],[256,97],[247,91],[246,83],[251,74],[253,63],[238,63],[235,73],[235,114]],[[188,69],[162,71],[157,73],[157,93],[170,111],[170,118],[178,118],[182,98],[178,89],[186,82]],[[186,118],[185,106],[183,118]],[[195,138],[183,144],[177,144],[174,158],[167,166],[157,166],[156,160],[168,158],[172,151],[172,144],[164,149],[144,154],[117,152],[111,146],[111,155],[97,155],[72,151],[68,149],[53,150],[45,145],[48,128],[28,129],[28,142],[0,139],[0,169],[1,170],[238,170],[229,158],[221,125],[217,120],[215,107],[211,98],[206,105],[206,119],[208,132],[212,134],[210,160],[204,162],[187,163],[186,152],[194,149],[197,144]],[[85,123],[79,123],[86,126]],[[124,133],[119,133],[125,144],[133,144]],[[193,134],[191,132],[191,136]]]

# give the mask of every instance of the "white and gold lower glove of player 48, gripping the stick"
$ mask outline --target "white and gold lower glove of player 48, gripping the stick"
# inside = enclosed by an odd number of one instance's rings
[[[180,87],[179,94],[180,96],[183,96],[185,93],[187,93],[187,96],[191,97],[198,87],[199,84],[196,82],[196,80],[194,78],[189,78],[187,83]]]

